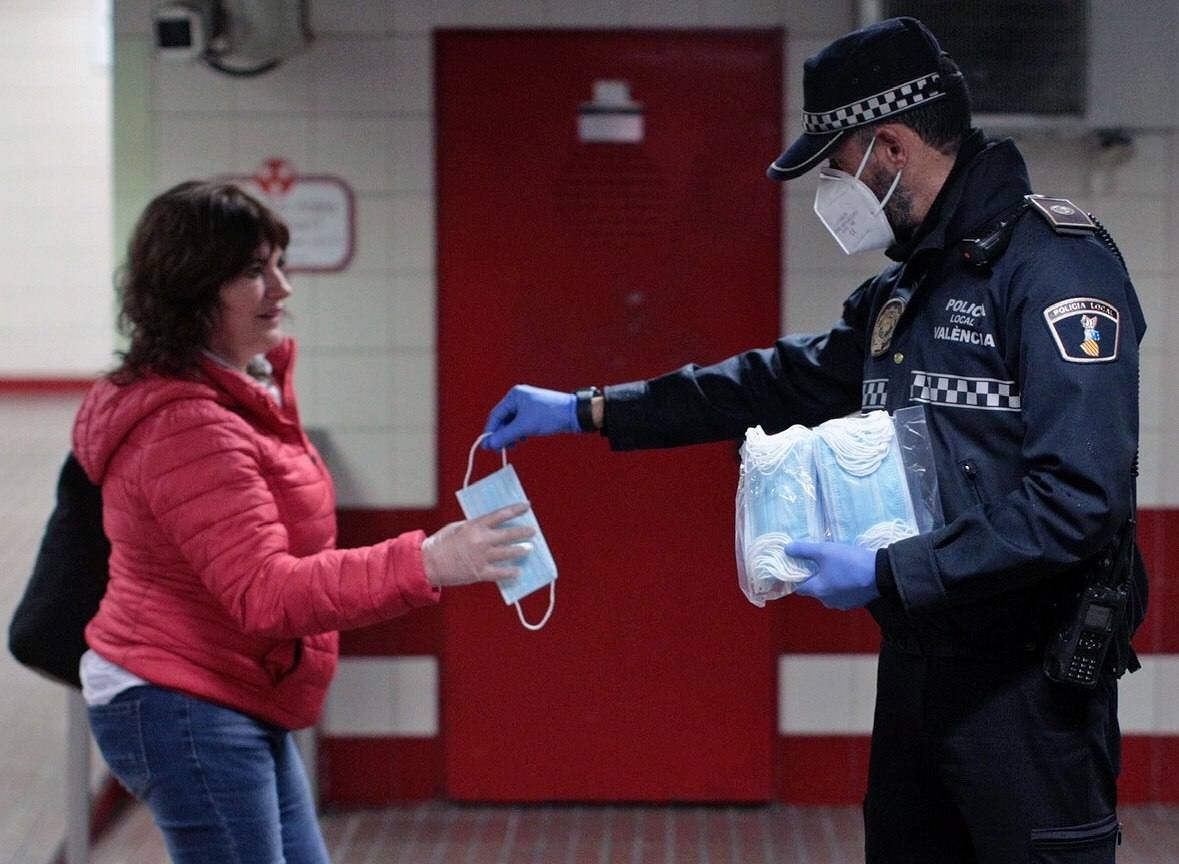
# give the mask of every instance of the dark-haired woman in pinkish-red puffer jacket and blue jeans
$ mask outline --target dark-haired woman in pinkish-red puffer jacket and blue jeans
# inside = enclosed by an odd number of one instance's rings
[[[519,575],[526,504],[335,549],[331,479],[291,389],[282,220],[232,185],[144,211],[121,277],[130,345],[79,410],[110,585],[84,695],[111,771],[174,862],[328,860],[290,730],[315,723],[336,631]]]

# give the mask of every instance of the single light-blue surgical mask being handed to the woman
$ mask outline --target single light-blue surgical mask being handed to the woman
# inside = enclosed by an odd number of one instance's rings
[[[470,482],[470,471],[475,463],[475,450],[479,447],[479,442],[485,437],[487,435],[480,435],[475,438],[475,443],[472,446],[470,454],[467,457],[467,475],[462,480],[462,488],[455,493],[455,496],[459,499],[459,506],[467,519],[475,519],[492,510],[498,510],[501,507],[528,500],[527,495],[523,494],[523,487],[520,484],[520,477],[516,476],[515,468],[508,464],[507,450],[500,451],[503,463],[500,470],[488,474],[474,483]],[[532,552],[512,562],[520,568],[520,575],[514,579],[500,580],[495,585],[500,589],[503,602],[508,606],[515,606],[520,624],[526,629],[538,631],[548,624],[548,619],[553,614],[553,608],[556,606],[556,562],[553,560],[553,553],[549,550],[548,543],[545,542],[545,535],[540,532],[540,523],[536,521],[536,514],[533,510],[529,509],[523,515],[509,519],[502,525],[527,525],[536,532],[528,540],[532,545]],[[520,608],[520,600],[534,591],[540,591],[546,585],[548,586],[548,611],[545,612],[545,616],[538,624],[529,624],[523,616],[523,609]]]

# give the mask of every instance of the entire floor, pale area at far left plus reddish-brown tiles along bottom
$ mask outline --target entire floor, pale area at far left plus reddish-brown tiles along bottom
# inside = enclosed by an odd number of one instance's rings
[[[0,621],[24,588],[68,448],[78,397],[0,395]],[[0,657],[0,864],[48,862],[64,832],[65,697]],[[1120,864],[1179,863],[1179,807],[1121,811]],[[857,807],[473,807],[430,803],[323,817],[335,864],[850,864],[863,859]],[[93,864],[166,864],[133,809]]]

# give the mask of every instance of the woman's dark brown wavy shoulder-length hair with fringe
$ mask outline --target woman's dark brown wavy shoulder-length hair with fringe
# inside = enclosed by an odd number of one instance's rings
[[[144,210],[118,278],[119,329],[131,341],[116,381],[186,377],[209,343],[222,285],[258,246],[285,249],[285,223],[230,183],[189,180]]]

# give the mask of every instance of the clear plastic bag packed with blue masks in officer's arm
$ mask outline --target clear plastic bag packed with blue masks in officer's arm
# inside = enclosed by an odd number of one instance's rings
[[[815,573],[795,540],[881,548],[942,525],[924,409],[841,417],[815,429],[746,430],[737,484],[742,592],[764,606]]]

